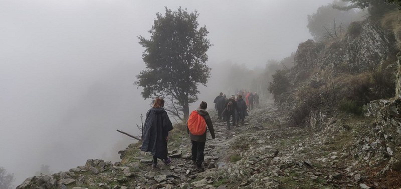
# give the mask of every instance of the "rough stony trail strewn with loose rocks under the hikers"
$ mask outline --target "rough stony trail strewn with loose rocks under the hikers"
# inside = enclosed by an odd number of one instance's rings
[[[202,168],[190,160],[191,143],[186,133],[175,128],[168,142],[169,165],[159,162],[158,168],[152,168],[151,155],[140,151],[139,144],[130,144],[119,151],[121,162],[88,159],[84,166],[66,172],[27,178],[17,188],[387,187],[388,180],[372,177],[378,170],[359,166],[349,153],[357,128],[369,120],[337,120],[333,116],[324,129],[314,132],[284,126],[283,112],[273,102],[262,105],[250,111],[245,125],[231,130],[210,110],[216,138],[208,133]],[[352,125],[352,129],[344,125]],[[265,158],[276,150],[277,156]]]

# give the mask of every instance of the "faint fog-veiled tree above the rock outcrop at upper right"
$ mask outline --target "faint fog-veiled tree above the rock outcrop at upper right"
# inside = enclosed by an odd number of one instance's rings
[[[308,29],[314,40],[321,40],[328,34],[339,36],[342,28],[353,21],[363,20],[361,10],[339,10],[333,6],[345,6],[346,3],[334,0],[332,3],[320,6],[312,15],[308,15]],[[326,30],[328,29],[328,30]]]

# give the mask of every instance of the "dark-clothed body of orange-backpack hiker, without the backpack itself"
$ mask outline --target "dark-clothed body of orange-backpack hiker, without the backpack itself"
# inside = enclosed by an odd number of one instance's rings
[[[206,108],[208,108],[208,103],[202,101],[199,107],[196,109],[196,111],[199,115],[205,118],[206,125],[209,128],[212,138],[215,139],[216,137],[215,129],[213,128],[212,119],[210,118],[208,111],[206,111]],[[191,148],[192,162],[196,163],[196,166],[198,168],[202,167],[202,163],[204,162],[204,157],[205,157],[204,151],[205,151],[207,131],[208,129],[206,129],[205,133],[202,135],[193,135],[192,133],[189,132],[189,129],[187,127],[187,132],[189,134],[189,138],[191,139],[192,143],[192,148]]]

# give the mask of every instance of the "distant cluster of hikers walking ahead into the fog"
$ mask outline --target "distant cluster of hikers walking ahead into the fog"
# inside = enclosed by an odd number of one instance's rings
[[[245,99],[243,98],[244,96]],[[227,121],[227,127],[230,130],[231,126],[238,126],[240,121],[242,125],[245,123],[248,111],[252,110],[255,106],[259,106],[259,95],[256,92],[247,92],[241,89],[237,91],[237,96],[231,95],[230,98],[227,98],[226,94],[220,92],[213,102],[218,113],[218,119]]]

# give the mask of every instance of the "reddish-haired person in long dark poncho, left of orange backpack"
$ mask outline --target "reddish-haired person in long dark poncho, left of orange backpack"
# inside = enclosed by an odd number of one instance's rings
[[[152,167],[157,167],[157,158],[164,160],[164,164],[171,162],[167,157],[168,131],[172,130],[172,124],[164,110],[164,100],[156,98],[153,107],[146,113],[145,123],[142,129],[142,151],[150,151],[153,156]]]

